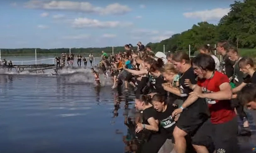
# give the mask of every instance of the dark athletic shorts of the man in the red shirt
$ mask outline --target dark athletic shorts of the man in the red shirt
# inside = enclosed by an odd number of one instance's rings
[[[226,123],[212,124],[212,139],[216,153],[240,153],[237,131],[237,117]]]

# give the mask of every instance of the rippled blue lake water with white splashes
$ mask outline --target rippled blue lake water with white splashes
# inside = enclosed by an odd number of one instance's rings
[[[117,107],[112,81],[102,77],[103,87],[95,88],[91,75],[89,69],[58,77],[0,74],[0,153],[124,153],[124,105],[134,108],[134,96],[122,95]],[[256,147],[256,139],[239,139],[241,153]]]

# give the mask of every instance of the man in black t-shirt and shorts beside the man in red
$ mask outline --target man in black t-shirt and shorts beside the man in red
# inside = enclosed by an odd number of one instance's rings
[[[210,133],[207,132],[210,125],[207,105],[204,99],[190,96],[189,94],[193,90],[185,84],[186,79],[189,79],[192,84],[197,83],[197,76],[194,74],[188,54],[185,52],[175,53],[173,65],[181,73],[179,86],[176,88],[163,84],[163,88],[184,101],[180,108],[172,113],[173,117],[181,113],[173,131],[176,152],[185,153],[185,137],[191,136],[193,147],[198,153],[209,153],[207,146],[211,144],[211,139],[209,139]],[[190,105],[191,102],[193,102],[192,105]]]

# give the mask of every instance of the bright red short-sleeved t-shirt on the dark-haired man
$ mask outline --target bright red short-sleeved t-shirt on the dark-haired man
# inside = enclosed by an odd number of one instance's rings
[[[219,86],[223,83],[229,83],[229,78],[220,72],[215,72],[211,79],[202,79],[197,81],[197,85],[202,88],[203,93],[218,92]],[[212,124],[221,124],[232,120],[236,114],[231,107],[230,100],[214,100],[206,98],[208,108],[211,113]]]

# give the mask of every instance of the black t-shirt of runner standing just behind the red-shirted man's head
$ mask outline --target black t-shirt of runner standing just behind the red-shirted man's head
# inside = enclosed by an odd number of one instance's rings
[[[229,57],[224,55],[222,62],[220,63],[221,71],[227,75],[227,77],[232,77],[234,73],[233,63],[229,60]]]

